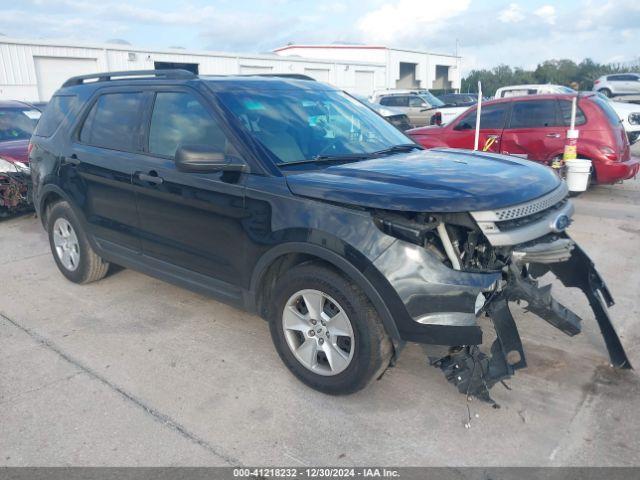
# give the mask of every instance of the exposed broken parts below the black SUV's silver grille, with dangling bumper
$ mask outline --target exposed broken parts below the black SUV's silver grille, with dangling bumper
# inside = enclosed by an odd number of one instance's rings
[[[574,336],[582,320],[551,294],[551,285],[540,287],[537,278],[551,272],[567,287],[578,287],[586,295],[604,337],[611,362],[631,368],[606,307],[613,299],[593,262],[565,233],[549,233],[534,241],[514,246],[492,246],[464,214],[425,215],[415,218],[378,217],[380,228],[411,239],[434,252],[454,270],[502,272],[495,291],[484,293],[486,301],[476,316],[486,314],[493,322],[496,340],[490,352],[476,345],[450,349],[444,355],[429,356],[460,393],[493,402],[489,389],[526,367],[520,335],[508,302],[524,302],[526,311],[536,314],[563,333]],[[482,303],[482,302],[480,302]]]

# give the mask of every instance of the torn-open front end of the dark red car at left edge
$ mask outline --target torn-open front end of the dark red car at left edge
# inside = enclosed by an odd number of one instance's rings
[[[0,158],[0,218],[29,210],[31,205],[29,167]]]

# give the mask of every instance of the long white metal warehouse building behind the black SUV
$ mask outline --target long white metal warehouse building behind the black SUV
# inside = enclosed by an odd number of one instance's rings
[[[274,54],[141,49],[0,37],[0,99],[48,101],[69,77],[186,68],[202,75],[300,73],[369,95],[385,88],[460,88],[460,57],[356,45],[289,45]]]

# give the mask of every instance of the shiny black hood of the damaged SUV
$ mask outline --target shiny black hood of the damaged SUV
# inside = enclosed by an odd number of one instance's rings
[[[420,150],[291,173],[300,196],[369,208],[468,212],[540,197],[560,180],[528,160],[458,149]]]

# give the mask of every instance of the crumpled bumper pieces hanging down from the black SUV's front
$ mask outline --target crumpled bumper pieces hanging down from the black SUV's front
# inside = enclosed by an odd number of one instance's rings
[[[551,285],[538,286],[536,279],[548,272],[564,286],[578,288],[584,293],[600,327],[611,364],[617,368],[632,368],[607,311],[614,304],[609,289],[584,250],[568,235],[560,237],[554,244],[555,250],[534,248],[531,254],[514,251],[506,279],[480,312],[491,318],[496,331],[489,354],[481,352],[478,346],[467,345],[430,356],[431,363],[440,367],[461,393],[491,401],[488,391],[494,384],[527,366],[509,302],[526,302],[526,310],[569,336],[580,333],[582,320],[551,295]]]

